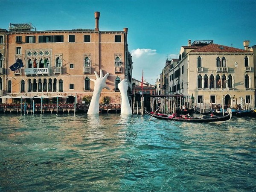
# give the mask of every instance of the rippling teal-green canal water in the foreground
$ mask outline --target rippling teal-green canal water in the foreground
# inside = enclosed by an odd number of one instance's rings
[[[0,191],[256,191],[256,119],[0,115]]]

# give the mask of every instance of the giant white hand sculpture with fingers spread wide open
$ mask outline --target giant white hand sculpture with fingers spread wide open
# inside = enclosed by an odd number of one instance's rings
[[[99,96],[100,93],[102,92],[102,89],[107,88],[110,90],[110,88],[106,84],[107,77],[109,73],[107,73],[103,77],[103,72],[102,70],[99,70],[100,75],[96,71],[94,71],[96,79],[90,79],[91,81],[94,82],[94,90],[93,90],[93,97],[90,102],[90,106],[88,109],[87,114],[98,114],[99,113]]]

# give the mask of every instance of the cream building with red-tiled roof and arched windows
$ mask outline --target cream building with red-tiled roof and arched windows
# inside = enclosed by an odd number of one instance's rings
[[[224,103],[236,108],[255,106],[255,66],[253,51],[213,44],[213,41],[195,41],[180,49],[180,58],[173,68],[171,84],[180,86],[172,94],[182,93],[195,97],[195,105]]]

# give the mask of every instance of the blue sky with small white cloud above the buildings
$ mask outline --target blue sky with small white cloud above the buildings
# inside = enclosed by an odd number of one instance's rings
[[[154,84],[167,58],[188,40],[244,49],[256,45],[256,0],[0,0],[0,28],[32,23],[38,31],[128,28],[133,78]]]

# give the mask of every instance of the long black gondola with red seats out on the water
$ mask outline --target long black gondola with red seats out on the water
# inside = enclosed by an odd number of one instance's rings
[[[157,119],[165,119],[165,120],[171,120],[171,121],[180,121],[180,122],[218,122],[218,121],[227,121],[231,119],[230,113],[228,113],[225,116],[203,116],[203,117],[191,117],[187,115],[177,115],[176,113],[173,113],[172,115],[168,114],[158,114],[154,112],[149,112],[145,109],[145,113],[153,116]]]

